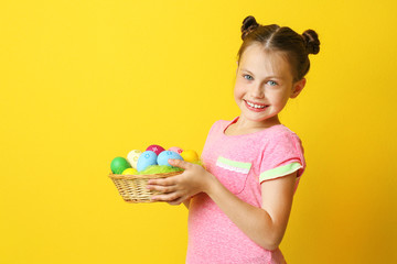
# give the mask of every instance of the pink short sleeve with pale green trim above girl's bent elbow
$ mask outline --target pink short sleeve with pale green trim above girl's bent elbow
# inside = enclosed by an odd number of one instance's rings
[[[302,142],[292,132],[272,135],[262,151],[259,182],[279,178],[298,170],[300,178],[305,168]]]

